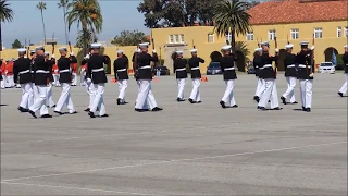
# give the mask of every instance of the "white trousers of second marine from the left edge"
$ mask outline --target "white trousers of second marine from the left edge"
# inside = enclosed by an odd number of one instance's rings
[[[47,86],[40,85],[35,86],[35,100],[34,103],[29,107],[29,110],[32,110],[33,112],[40,110],[40,115],[48,114],[48,109],[45,105],[47,99]]]

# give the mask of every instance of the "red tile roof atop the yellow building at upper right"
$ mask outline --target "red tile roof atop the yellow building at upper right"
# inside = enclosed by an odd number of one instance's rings
[[[251,25],[343,21],[348,20],[348,0],[263,2],[248,10],[248,13],[251,15]]]

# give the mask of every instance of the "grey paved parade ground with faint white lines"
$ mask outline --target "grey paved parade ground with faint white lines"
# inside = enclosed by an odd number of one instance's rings
[[[126,106],[109,83],[110,118],[92,120],[83,87],[72,89],[79,113],[50,120],[18,113],[21,91],[1,90],[1,195],[346,195],[343,82],[315,75],[311,113],[300,105],[258,111],[252,75],[239,75],[239,108],[225,110],[221,76],[202,84],[201,105],[177,103],[174,77],[160,77],[153,91],[164,110],[148,113],[133,110],[133,79]],[[283,76],[277,86],[281,96]]]

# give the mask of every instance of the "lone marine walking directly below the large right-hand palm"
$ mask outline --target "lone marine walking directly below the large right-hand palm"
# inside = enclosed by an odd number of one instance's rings
[[[237,58],[231,52],[231,46],[222,47],[223,57],[220,59],[221,71],[223,72],[223,79],[226,84],[226,90],[222,97],[220,105],[222,108],[237,108],[234,87],[237,74],[235,71],[235,61]]]

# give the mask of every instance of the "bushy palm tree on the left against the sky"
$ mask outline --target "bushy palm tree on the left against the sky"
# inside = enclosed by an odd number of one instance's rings
[[[82,26],[84,37],[84,54],[87,53],[88,30],[99,34],[102,29],[102,15],[98,0],[73,0],[69,3],[66,13],[67,29],[73,23]]]

